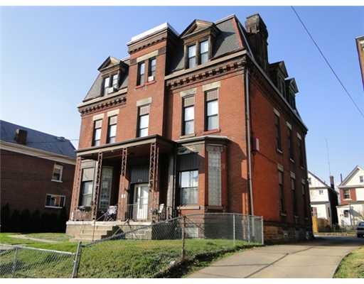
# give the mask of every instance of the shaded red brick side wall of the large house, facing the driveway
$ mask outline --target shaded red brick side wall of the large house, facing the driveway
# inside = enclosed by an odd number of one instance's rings
[[[299,213],[299,223],[305,224],[304,210],[309,217],[308,199],[302,195],[301,180],[306,180],[306,168],[299,165],[297,133],[304,141],[304,129],[301,129],[292,115],[287,113],[287,107],[275,102],[272,97],[277,96],[272,90],[260,87],[259,82],[253,77],[250,80],[250,109],[252,123],[252,137],[259,139],[259,151],[252,158],[253,170],[253,196],[255,215],[264,216],[267,222],[294,223],[293,199],[291,191],[291,172],[296,175],[296,200]],[[282,136],[282,152],[276,150],[276,129],[274,126],[274,108],[280,114],[280,127]],[[292,138],[294,141],[294,163],[289,159],[289,141],[287,121],[292,126]],[[304,147],[304,143],[303,143]],[[305,151],[304,151],[305,152]],[[279,186],[277,164],[284,167],[284,202],[287,216],[282,217],[279,212]],[[306,162],[304,162],[306,165]]]

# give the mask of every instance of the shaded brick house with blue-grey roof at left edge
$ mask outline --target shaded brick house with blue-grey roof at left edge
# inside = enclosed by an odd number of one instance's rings
[[[1,229],[64,229],[57,218],[70,209],[75,174],[72,143],[7,121],[0,121],[0,127]]]

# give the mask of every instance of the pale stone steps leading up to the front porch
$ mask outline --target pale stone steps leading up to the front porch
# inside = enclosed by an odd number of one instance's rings
[[[99,239],[106,239],[109,236],[112,236],[118,228],[118,226],[112,225],[96,225],[95,228],[93,225],[84,225],[71,241],[96,241]]]

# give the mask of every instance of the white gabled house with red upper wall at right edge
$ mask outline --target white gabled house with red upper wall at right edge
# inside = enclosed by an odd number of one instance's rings
[[[364,221],[364,170],[358,165],[338,186],[340,206],[338,206],[338,224],[355,226]]]

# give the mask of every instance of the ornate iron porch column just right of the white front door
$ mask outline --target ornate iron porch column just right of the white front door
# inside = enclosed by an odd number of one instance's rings
[[[152,212],[159,209],[159,145],[151,143],[149,158],[149,217]]]

